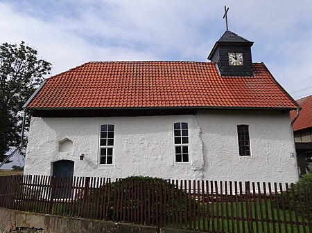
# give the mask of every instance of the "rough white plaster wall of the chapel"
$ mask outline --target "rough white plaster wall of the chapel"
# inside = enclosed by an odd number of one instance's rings
[[[173,123],[189,123],[189,164],[174,162]],[[114,165],[98,164],[99,127],[114,124]],[[237,124],[248,124],[252,156],[239,156]],[[199,111],[197,115],[32,118],[25,174],[53,173],[52,162],[75,162],[74,176],[293,182],[298,178],[288,114]],[[72,152],[59,142],[73,141]],[[83,161],[80,154],[85,154]]]

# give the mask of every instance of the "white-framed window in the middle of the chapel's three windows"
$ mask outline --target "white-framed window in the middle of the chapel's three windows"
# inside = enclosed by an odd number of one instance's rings
[[[189,162],[189,124],[176,122],[173,124],[175,143],[175,162]]]

